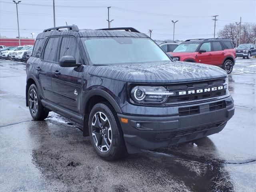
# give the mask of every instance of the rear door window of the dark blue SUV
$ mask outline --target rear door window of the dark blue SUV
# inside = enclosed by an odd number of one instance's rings
[[[44,49],[44,60],[57,62],[58,45],[60,42],[59,37],[49,38],[46,47]]]

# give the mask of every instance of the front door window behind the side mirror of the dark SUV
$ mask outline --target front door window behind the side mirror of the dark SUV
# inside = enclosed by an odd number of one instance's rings
[[[63,37],[60,46],[60,58],[64,55],[74,56],[76,64],[81,63],[78,44],[73,37]]]

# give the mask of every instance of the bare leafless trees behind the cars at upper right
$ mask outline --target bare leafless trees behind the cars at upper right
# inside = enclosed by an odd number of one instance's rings
[[[230,38],[232,43],[236,45],[236,33],[240,35],[240,44],[244,43],[256,43],[256,25],[255,24],[242,24],[241,32],[239,34],[239,28],[236,24],[230,23],[224,26],[222,30],[218,32],[218,35],[222,38]]]

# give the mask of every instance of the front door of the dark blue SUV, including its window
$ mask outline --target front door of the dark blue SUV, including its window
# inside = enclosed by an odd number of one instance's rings
[[[73,37],[62,37],[60,46],[60,56],[74,56],[76,63],[82,63],[78,50],[78,44]],[[54,64],[52,67],[52,90],[54,92],[54,102],[68,110],[80,113],[80,98],[84,68],[79,67],[60,67]]]

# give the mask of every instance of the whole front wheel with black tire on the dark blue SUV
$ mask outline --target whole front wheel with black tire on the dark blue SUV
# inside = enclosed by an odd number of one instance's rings
[[[126,154],[123,133],[116,112],[110,104],[95,104],[90,112],[88,125],[92,146],[101,158],[112,161]]]

